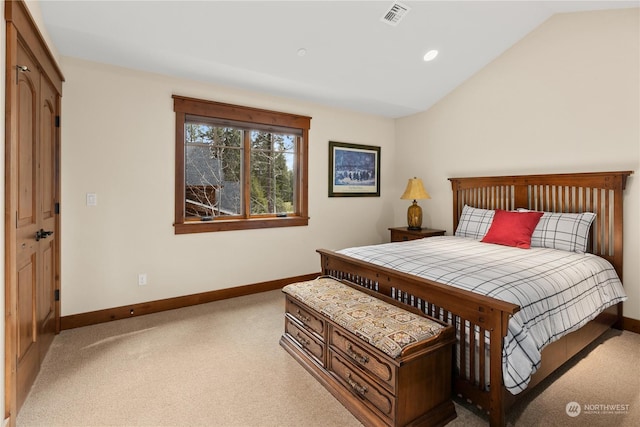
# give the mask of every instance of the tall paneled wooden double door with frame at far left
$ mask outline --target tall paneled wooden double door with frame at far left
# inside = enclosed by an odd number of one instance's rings
[[[62,73],[22,1],[5,2],[5,414],[17,414],[60,330]]]

